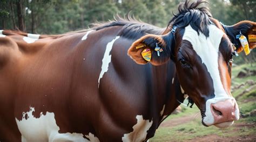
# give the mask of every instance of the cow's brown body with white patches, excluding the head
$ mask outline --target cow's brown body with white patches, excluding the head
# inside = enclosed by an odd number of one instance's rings
[[[126,53],[134,39],[118,36],[121,28],[34,43],[19,35],[0,38],[1,48],[8,52],[1,69],[0,115],[6,125],[1,139],[152,137],[160,121],[179,105],[176,95],[183,101],[176,67],[172,61],[161,66],[134,63]]]

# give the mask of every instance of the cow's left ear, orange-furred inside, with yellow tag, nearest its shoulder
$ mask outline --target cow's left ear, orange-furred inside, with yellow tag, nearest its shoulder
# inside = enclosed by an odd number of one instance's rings
[[[146,35],[136,40],[128,50],[128,55],[137,64],[162,65],[171,56],[173,35]]]

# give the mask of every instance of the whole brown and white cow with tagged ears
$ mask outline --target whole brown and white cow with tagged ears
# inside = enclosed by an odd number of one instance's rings
[[[184,91],[205,126],[232,125],[232,43],[241,51],[235,36],[256,23],[221,25],[202,4],[180,4],[165,29],[117,18],[57,36],[0,30],[0,141],[146,141]]]

